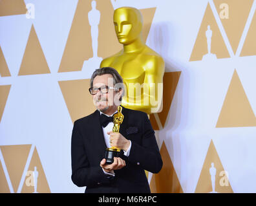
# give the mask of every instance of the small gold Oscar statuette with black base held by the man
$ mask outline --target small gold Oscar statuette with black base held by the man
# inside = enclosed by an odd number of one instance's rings
[[[113,116],[113,129],[112,132],[113,133],[118,133],[119,132],[119,128],[120,128],[120,124],[122,124],[123,122],[123,114],[122,114],[122,107],[118,106],[118,113],[114,114]],[[107,148],[105,151],[105,159],[106,159],[106,164],[112,164],[114,162],[114,157],[118,157],[120,154],[121,149],[119,149],[118,147],[111,147],[111,148]]]

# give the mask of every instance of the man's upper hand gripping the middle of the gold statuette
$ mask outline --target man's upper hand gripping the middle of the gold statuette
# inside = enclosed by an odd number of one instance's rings
[[[130,145],[130,141],[127,140],[123,135],[120,133],[113,133],[112,131],[109,131],[107,133],[111,142],[111,147],[118,147],[120,149],[123,149],[124,151],[127,151]]]

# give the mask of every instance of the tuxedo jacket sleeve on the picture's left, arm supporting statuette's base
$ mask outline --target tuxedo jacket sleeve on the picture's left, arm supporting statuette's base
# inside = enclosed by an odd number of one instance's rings
[[[103,173],[99,165],[91,167],[87,159],[85,147],[79,129],[79,123],[74,122],[71,139],[72,182],[78,187],[94,186],[109,183],[111,180]]]

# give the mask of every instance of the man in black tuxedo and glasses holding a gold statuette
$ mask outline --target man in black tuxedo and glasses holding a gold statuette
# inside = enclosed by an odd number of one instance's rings
[[[89,91],[97,110],[74,122],[71,178],[78,187],[87,186],[85,192],[150,192],[145,170],[158,173],[162,168],[146,113],[122,107],[119,133],[112,133],[113,122],[105,121],[120,105],[122,82],[113,68],[94,71]],[[104,158],[107,147],[122,149],[112,164]]]

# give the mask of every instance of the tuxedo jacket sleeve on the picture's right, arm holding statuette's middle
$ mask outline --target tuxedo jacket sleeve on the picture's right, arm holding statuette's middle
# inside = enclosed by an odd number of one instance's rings
[[[151,173],[159,173],[162,169],[163,162],[156,143],[155,131],[146,113],[142,115],[141,144],[132,141],[128,160]]]

